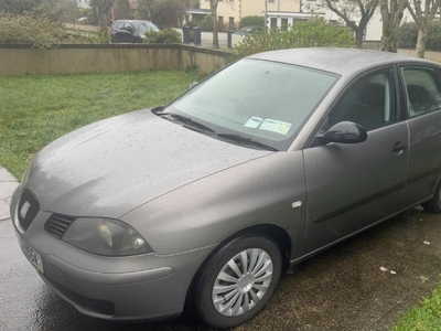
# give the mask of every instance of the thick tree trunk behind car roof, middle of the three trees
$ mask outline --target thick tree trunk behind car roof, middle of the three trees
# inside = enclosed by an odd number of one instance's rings
[[[408,6],[408,0],[380,0],[380,13],[383,20],[383,50],[397,53],[398,30],[402,20],[402,13]]]

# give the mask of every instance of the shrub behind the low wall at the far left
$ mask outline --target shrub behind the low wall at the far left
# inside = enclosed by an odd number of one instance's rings
[[[47,18],[0,12],[0,43],[50,49],[58,45],[63,38],[64,31],[60,23],[51,22]]]

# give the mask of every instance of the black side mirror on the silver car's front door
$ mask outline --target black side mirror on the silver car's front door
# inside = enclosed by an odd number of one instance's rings
[[[352,121],[341,121],[327,131],[319,134],[316,139],[323,143],[358,143],[367,139],[367,132],[361,125]]]

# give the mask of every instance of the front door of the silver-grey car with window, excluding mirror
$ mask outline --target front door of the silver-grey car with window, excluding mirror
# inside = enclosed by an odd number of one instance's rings
[[[397,74],[390,66],[355,81],[320,131],[341,121],[367,130],[361,143],[313,142],[303,150],[304,249],[314,252],[394,214],[406,179],[408,129],[398,121]]]

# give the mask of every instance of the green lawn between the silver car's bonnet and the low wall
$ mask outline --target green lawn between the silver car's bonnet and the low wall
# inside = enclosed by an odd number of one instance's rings
[[[0,164],[21,178],[50,141],[117,114],[165,105],[197,79],[183,71],[0,77]]]

